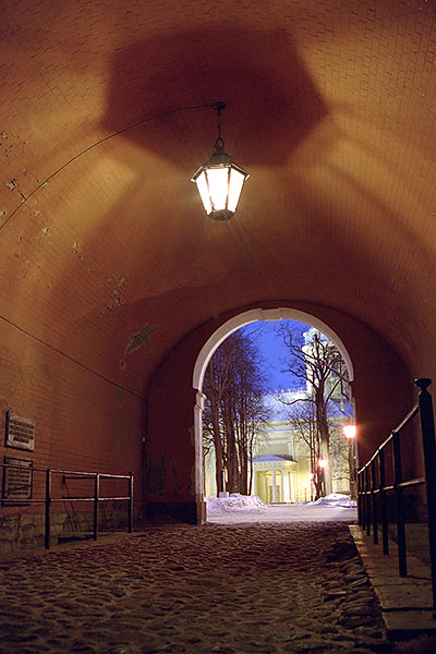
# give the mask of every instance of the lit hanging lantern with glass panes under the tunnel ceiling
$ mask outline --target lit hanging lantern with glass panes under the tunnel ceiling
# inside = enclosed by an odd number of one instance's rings
[[[242,186],[250,173],[233,164],[231,156],[225,152],[220,116],[226,105],[218,102],[215,107],[218,113],[215,152],[206,164],[198,168],[191,181],[197,185],[207,215],[214,220],[230,220],[237,210]]]

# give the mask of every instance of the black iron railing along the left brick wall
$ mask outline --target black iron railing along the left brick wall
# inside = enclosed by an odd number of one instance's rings
[[[5,470],[17,470],[21,473],[23,472],[23,467],[14,465],[12,463],[0,463],[0,468]],[[27,469],[26,469],[27,470]],[[53,502],[80,502],[80,501],[92,501],[93,502],[93,538],[97,541],[98,538],[98,507],[102,501],[111,501],[111,500],[125,500],[128,502],[128,531],[129,533],[133,530],[133,473],[129,474],[107,474],[101,472],[72,472],[69,470],[52,470],[50,468],[31,468],[28,469],[34,473],[44,473],[45,480],[44,484],[39,484],[39,491],[41,492],[41,497],[34,498],[33,496],[22,497],[11,497],[5,493],[4,482],[1,501],[3,505],[8,506],[23,506],[29,504],[44,504],[45,505],[45,548],[50,548],[50,531],[51,531],[51,520],[50,520],[50,509]],[[62,495],[61,497],[53,497],[52,493],[52,481],[55,475],[62,475],[61,484],[66,484],[68,480],[92,480],[93,483],[93,494],[90,496],[78,495]],[[102,497],[100,495],[100,482],[102,480],[128,480],[128,495],[123,496],[110,496]],[[29,488],[33,488],[33,481],[29,484]]]

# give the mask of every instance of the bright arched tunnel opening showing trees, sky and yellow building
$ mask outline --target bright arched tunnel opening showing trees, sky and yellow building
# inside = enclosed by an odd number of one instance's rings
[[[259,316],[262,323],[258,322]],[[198,389],[198,392],[203,392],[206,412],[202,410],[202,424],[196,422],[196,428],[203,433],[203,436],[196,435],[196,443],[202,440],[203,444],[203,471],[198,474],[204,480],[209,513],[211,507],[217,512],[220,502],[225,511],[226,507],[230,510],[230,505],[241,505],[242,499],[235,499],[237,495],[254,496],[267,505],[307,502],[332,493],[344,496],[350,494],[351,480],[355,499],[355,438],[350,443],[343,434],[344,425],[355,424],[350,385],[353,368],[337,335],[316,319],[317,329],[311,327],[312,318],[292,310],[259,310],[257,318],[255,312],[242,314],[214,334],[202,350],[196,367],[206,370],[206,383],[205,373],[202,372],[203,387]],[[247,320],[251,320],[251,327],[246,326]],[[270,329],[279,322],[281,337]],[[320,329],[329,330],[330,338],[339,343],[347,364],[337,346]],[[249,339],[244,341],[246,334]],[[256,334],[254,341],[250,340],[250,334]],[[237,336],[237,342],[226,341],[229,335],[234,335],[230,336],[230,340],[235,340]],[[263,348],[258,346],[259,337],[263,337]],[[283,337],[291,339],[291,352],[282,342]],[[316,349],[314,337],[323,339]],[[220,344],[217,346],[217,342]],[[226,342],[229,344],[222,352],[222,343]],[[282,343],[280,354],[284,359],[279,362],[279,354],[276,354],[276,361],[272,361],[269,355],[269,361],[265,363],[263,353],[268,351],[269,354],[274,347],[278,348],[279,342]],[[222,354],[218,359],[215,356],[211,372],[210,367],[204,366],[208,365],[217,348],[218,354]],[[250,354],[245,349],[250,350]],[[292,351],[296,359],[292,358]],[[299,366],[299,377],[289,368],[291,364]],[[271,366],[280,370],[283,365],[288,366],[287,374],[282,372],[272,378]],[[289,388],[291,384],[292,389]],[[278,386],[281,386],[281,390]],[[209,392],[210,397],[204,391]],[[250,409],[247,396],[251,397]],[[230,415],[234,416],[234,421],[229,424]],[[323,417],[325,420],[320,424]],[[323,429],[327,431],[326,443],[322,443]],[[230,457],[233,460],[229,460]],[[323,465],[328,468],[323,469]],[[228,470],[231,470],[233,477],[238,471],[238,480],[229,481]],[[214,496],[221,499],[213,501]],[[228,500],[227,496],[233,499]],[[246,509],[249,505],[250,501]]]

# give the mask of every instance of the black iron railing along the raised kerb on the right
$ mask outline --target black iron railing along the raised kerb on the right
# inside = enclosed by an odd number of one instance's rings
[[[373,532],[373,541],[375,544],[378,544],[379,524],[382,525],[383,553],[388,555],[388,493],[393,493],[397,522],[398,569],[400,577],[407,577],[408,560],[403,494],[405,488],[425,485],[432,570],[433,617],[436,618],[436,443],[432,396],[427,391],[427,387],[431,384],[432,380],[427,378],[415,380],[415,385],[420,388],[416,403],[401,423],[392,429],[390,436],[377,448],[370,461],[358,471],[358,497],[359,523],[366,530],[368,536],[371,535],[371,532]],[[416,415],[420,416],[425,476],[404,480],[400,436],[401,432],[403,432]],[[391,480],[389,480],[391,483],[387,483],[388,450],[391,452]]]

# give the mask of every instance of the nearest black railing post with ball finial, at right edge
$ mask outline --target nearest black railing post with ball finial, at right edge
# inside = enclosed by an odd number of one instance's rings
[[[421,433],[424,450],[425,485],[427,493],[428,541],[433,586],[433,617],[436,618],[436,441],[432,396],[427,387],[432,379],[415,379],[420,388],[417,396],[421,419]]]

